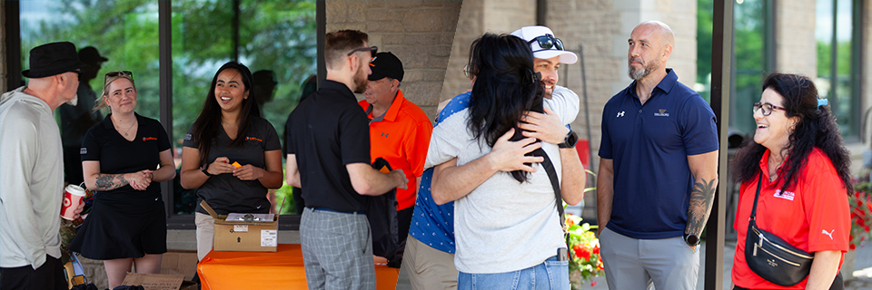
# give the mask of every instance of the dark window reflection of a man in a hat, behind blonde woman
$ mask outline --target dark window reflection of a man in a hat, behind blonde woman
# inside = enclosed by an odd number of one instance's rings
[[[64,180],[70,184],[84,181],[82,155],[79,154],[84,133],[103,120],[103,114],[93,110],[97,95],[89,82],[97,77],[97,72],[109,59],[100,55],[94,46],[88,46],[79,50],[79,60],[85,65],[75,91],[76,103],[64,103],[57,108],[57,114],[61,116],[61,140],[64,141]]]

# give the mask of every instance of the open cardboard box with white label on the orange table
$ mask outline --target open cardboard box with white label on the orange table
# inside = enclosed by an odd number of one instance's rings
[[[272,221],[225,220],[206,204],[200,203],[215,218],[215,251],[275,252],[279,246],[279,217]]]

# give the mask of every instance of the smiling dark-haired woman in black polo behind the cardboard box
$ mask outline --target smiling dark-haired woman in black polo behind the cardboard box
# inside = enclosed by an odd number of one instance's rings
[[[282,147],[269,121],[260,117],[252,73],[241,63],[224,63],[212,80],[203,111],[184,136],[182,187],[197,190],[197,256],[214,245],[219,215],[268,213],[267,189],[282,187]]]

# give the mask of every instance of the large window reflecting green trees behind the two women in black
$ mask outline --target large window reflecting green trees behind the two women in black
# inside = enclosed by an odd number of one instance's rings
[[[317,9],[322,5],[315,0],[9,2],[7,9],[20,11],[20,26],[6,25],[5,29],[21,37],[20,54],[9,53],[10,57],[20,56],[20,66],[14,63],[9,67],[27,69],[30,49],[42,43],[69,41],[77,49],[93,46],[108,59],[89,82],[95,94],[102,91],[104,73],[134,72],[136,112],[162,121],[164,127],[171,126],[167,133],[173,151],[181,153],[181,140],[203,107],[214,73],[223,63],[235,60],[256,73],[255,82],[265,80],[260,89],[263,93],[258,93],[271,97],[262,99],[261,114],[272,123],[284,144],[284,122],[304,89],[312,91],[313,76],[318,72],[322,40],[317,30],[319,25],[323,29],[324,17],[316,21],[316,14],[324,13],[322,7]],[[162,14],[164,11],[169,12],[169,17]],[[160,34],[161,27],[170,28],[169,45],[164,43],[167,40]],[[162,50],[170,51],[170,57],[161,58],[162,53],[167,53]],[[166,70],[169,63],[172,70]],[[162,88],[162,80],[172,83],[168,85],[170,90],[162,91],[166,89]],[[180,156],[174,157],[178,167]],[[274,209],[294,214],[290,187],[279,189],[277,195],[272,198],[278,203]],[[190,214],[195,191],[183,190],[177,177],[174,186],[163,187],[163,197],[171,228],[193,228]],[[295,220],[282,224],[294,229]]]

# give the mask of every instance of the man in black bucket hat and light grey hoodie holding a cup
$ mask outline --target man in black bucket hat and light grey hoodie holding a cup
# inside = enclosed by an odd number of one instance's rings
[[[30,51],[30,82],[0,96],[0,288],[66,289],[61,265],[64,162],[52,111],[75,100],[73,43]],[[77,209],[81,212],[82,208]],[[77,216],[77,214],[76,214]]]

